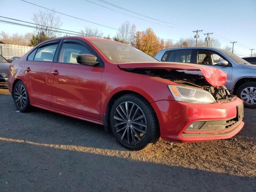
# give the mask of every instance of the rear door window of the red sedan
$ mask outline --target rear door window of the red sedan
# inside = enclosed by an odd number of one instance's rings
[[[39,47],[36,51],[34,61],[52,62],[58,43],[46,44]]]

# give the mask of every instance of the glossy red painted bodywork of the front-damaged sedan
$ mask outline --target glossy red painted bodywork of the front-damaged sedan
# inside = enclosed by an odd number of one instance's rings
[[[70,37],[65,37],[70,38]],[[184,129],[196,120],[219,120],[236,116],[236,106],[242,100],[226,104],[191,104],[176,102],[168,90],[166,79],[126,72],[120,68],[165,68],[167,70],[200,70],[213,86],[226,82],[226,74],[216,68],[180,63],[127,63],[115,64],[108,60],[90,40],[96,38],[71,37],[85,41],[100,56],[104,67],[58,62],[26,61],[30,52],[12,63],[8,87],[12,92],[14,81],[22,80],[30,96],[30,104],[74,118],[103,124],[103,117],[110,99],[120,92],[130,91],[143,96],[152,104],[160,125],[161,137],[165,140],[195,142],[229,138],[228,136],[208,136],[207,138],[184,138],[180,135]],[[58,38],[59,39],[59,38]],[[98,39],[97,39],[98,40]],[[104,39],[100,39],[104,40]],[[119,43],[119,42],[116,42]],[[26,69],[30,68],[27,72]],[[58,72],[52,74],[52,72]]]

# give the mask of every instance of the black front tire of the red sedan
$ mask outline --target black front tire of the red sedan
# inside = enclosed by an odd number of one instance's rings
[[[128,108],[127,112],[126,106]],[[137,112],[135,112],[137,107],[138,110]],[[123,108],[125,112],[121,110],[121,108]],[[121,118],[120,113],[118,113],[119,111],[123,118]],[[129,116],[129,114],[130,117],[127,117]],[[133,114],[135,114],[135,116]],[[143,117],[140,118],[141,116]],[[121,118],[123,120],[119,121],[116,120],[114,117]],[[138,118],[140,119],[136,120]],[[124,121],[124,119],[126,120],[126,122]],[[131,121],[130,125],[128,125],[128,120]],[[117,122],[123,124],[122,126],[124,126],[124,131],[121,130],[122,128],[118,129],[119,127],[116,126],[118,124]],[[138,125],[138,123],[140,125]],[[146,128],[144,127],[145,125]],[[127,128],[125,128],[125,126]],[[142,96],[138,96],[136,94],[127,94],[116,100],[110,111],[110,127],[118,142],[120,142],[120,144],[122,144],[125,148],[128,148],[129,150],[146,149],[154,144],[158,140],[160,135],[158,121],[152,106]],[[139,130],[143,130],[145,133],[142,133]],[[126,133],[124,134],[124,132]],[[123,134],[124,136],[122,139],[121,135]],[[128,143],[129,140],[131,143]]]

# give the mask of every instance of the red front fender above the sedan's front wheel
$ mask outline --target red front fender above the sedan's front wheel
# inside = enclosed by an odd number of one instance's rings
[[[121,91],[132,91],[142,95],[148,102],[158,100],[174,100],[168,84],[175,84],[172,81],[126,72],[120,70],[116,64],[107,64],[102,74],[102,109],[101,117],[106,112],[108,102],[114,94]]]

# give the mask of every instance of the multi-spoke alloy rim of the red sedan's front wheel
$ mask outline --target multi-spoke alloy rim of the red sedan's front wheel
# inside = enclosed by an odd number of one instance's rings
[[[114,129],[120,140],[136,145],[146,135],[146,116],[134,102],[122,102],[114,112]]]

